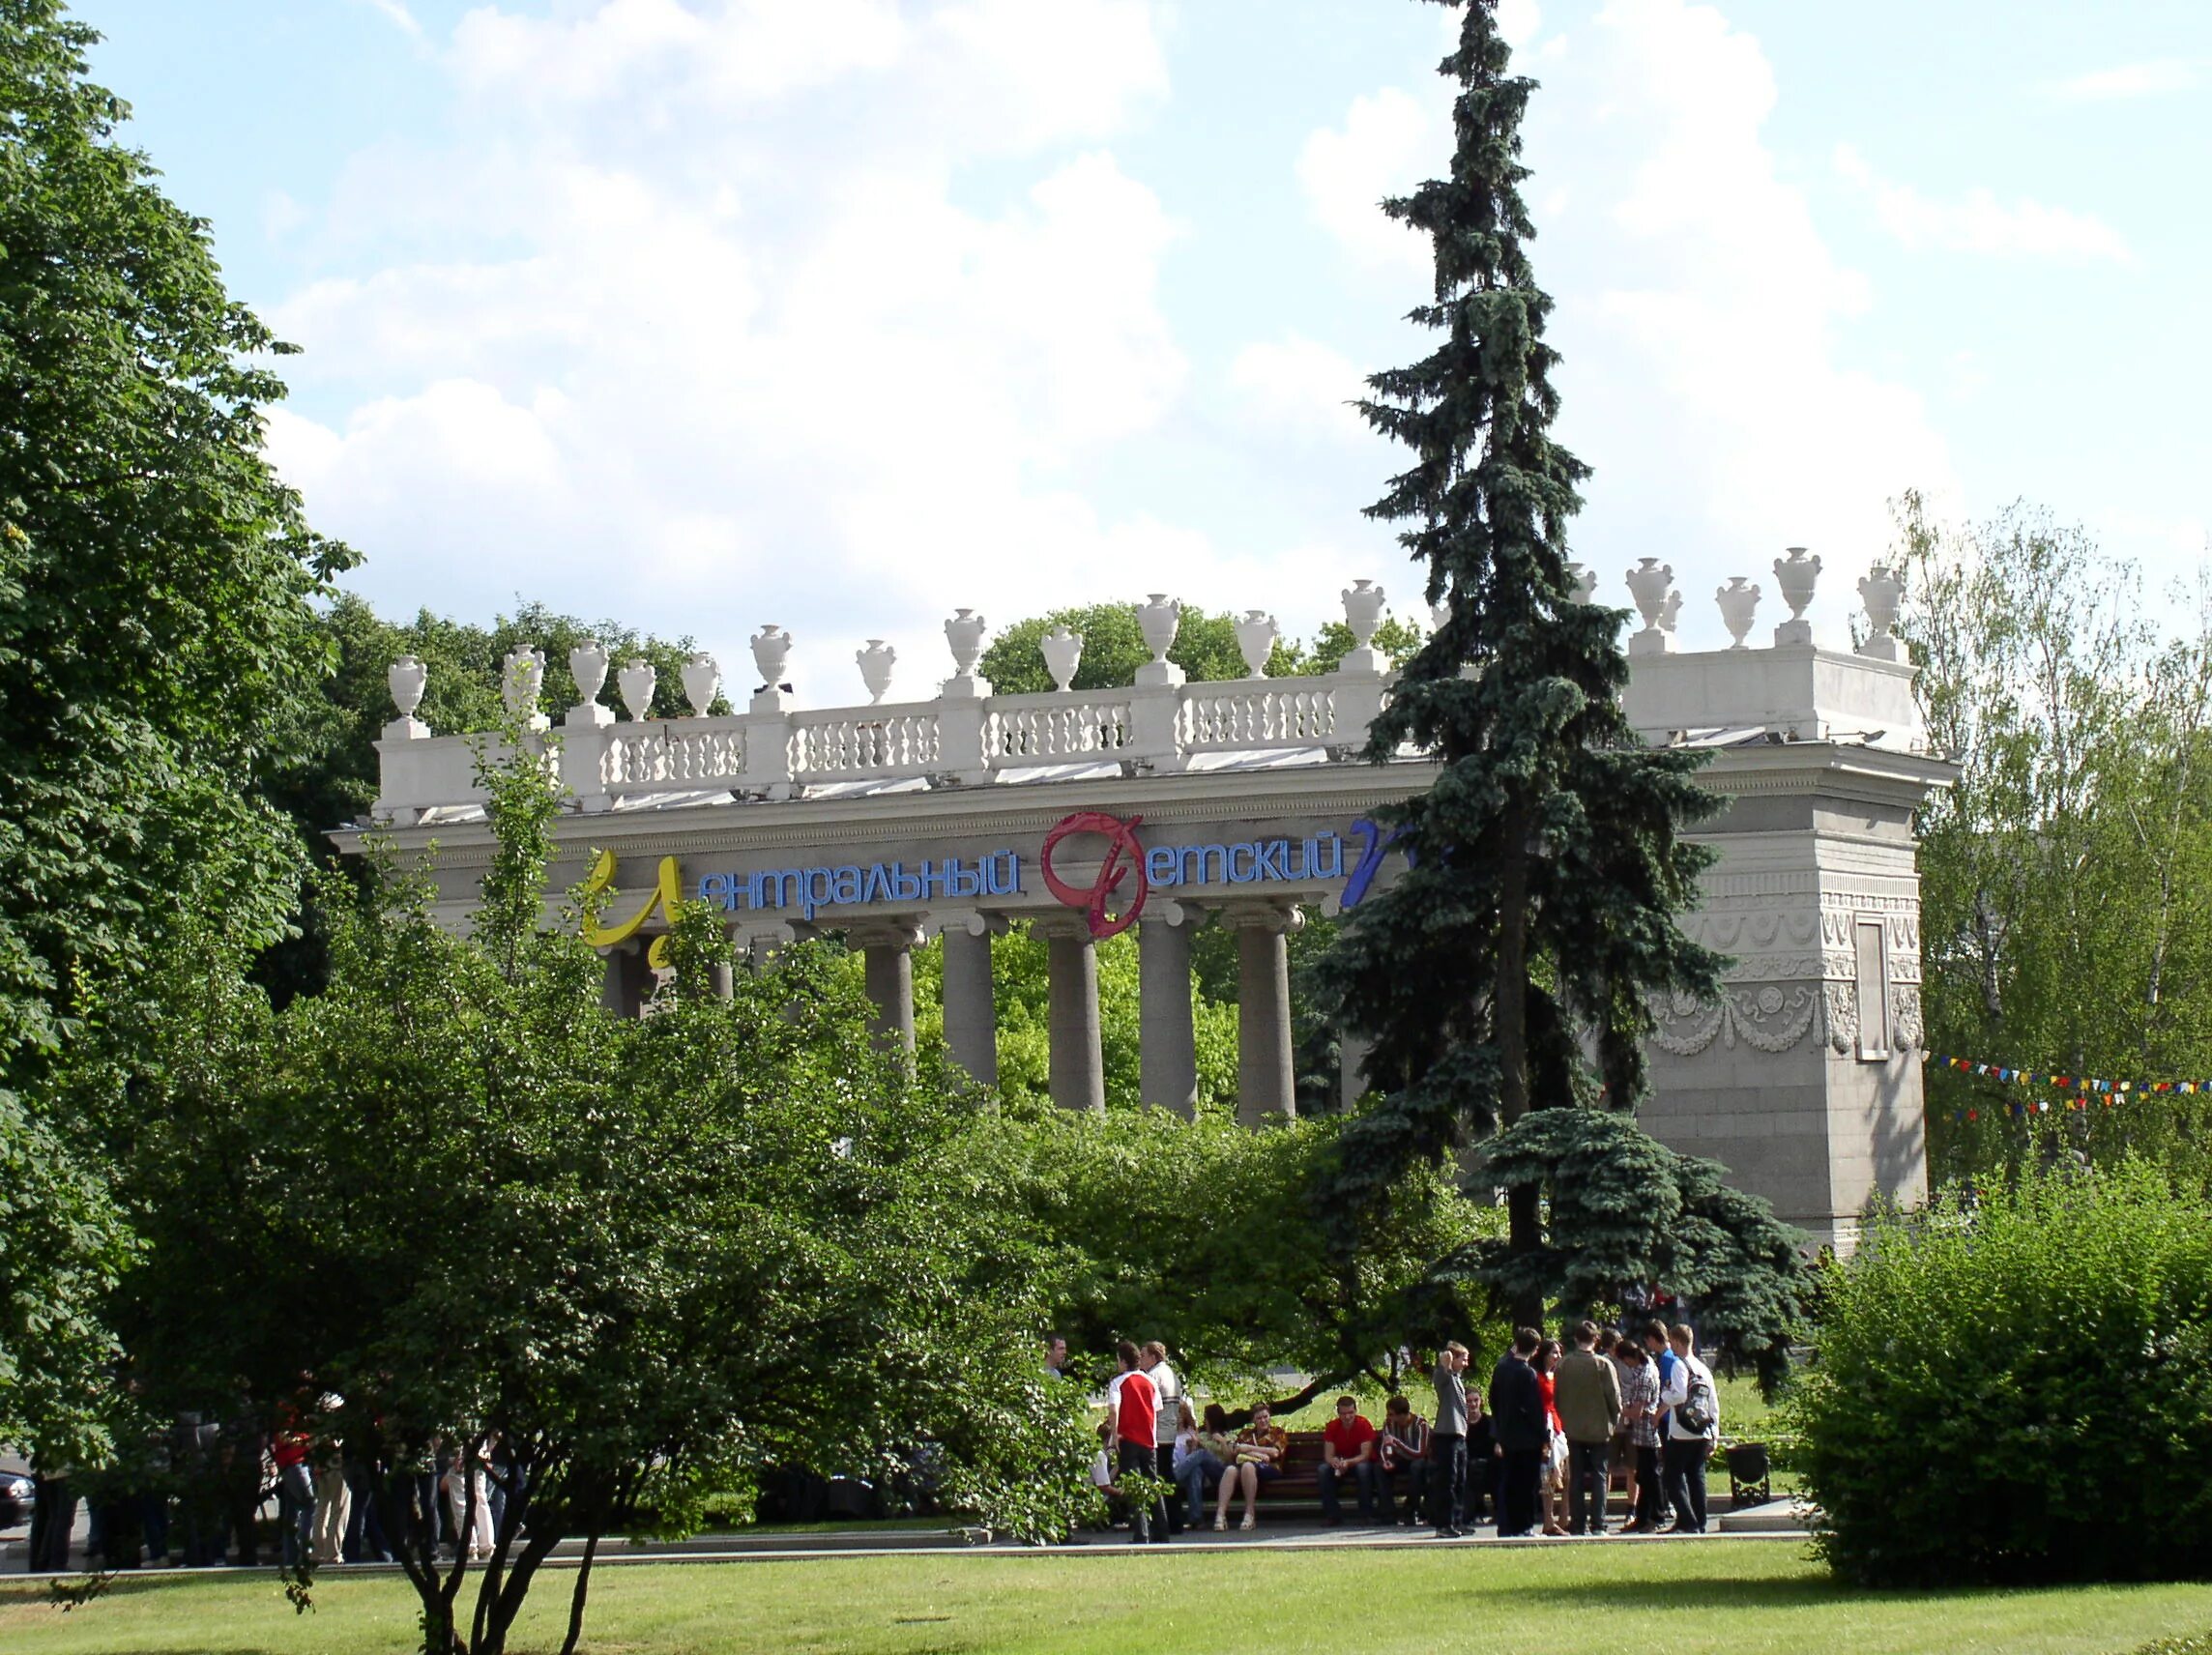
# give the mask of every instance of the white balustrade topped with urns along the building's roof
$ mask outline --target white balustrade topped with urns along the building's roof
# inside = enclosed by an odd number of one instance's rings
[[[1776,582],[1792,608],[1792,620],[1776,628],[1778,644],[1812,644],[1803,608],[1816,573],[1818,558],[1801,551],[1776,560]],[[1582,571],[1577,577],[1588,584]],[[1924,746],[1911,704],[1911,664],[1898,659],[1902,646],[1893,626],[1902,582],[1893,571],[1876,566],[1858,586],[1874,635],[1856,655],[1754,650],[1743,644],[1677,653],[1672,626],[1681,593],[1672,580],[1674,571],[1657,558],[1628,573],[1646,628],[1628,644],[1635,673],[1626,706],[1646,739],[1670,741],[1686,730],[1730,728],[1736,721],[1781,732],[1785,741],[1843,732],[1898,750]],[[1756,589],[1736,580],[1719,595],[1723,611],[1732,611],[1730,633],[1745,637]],[[1383,593],[1371,582],[1358,582],[1345,593],[1345,613],[1356,637],[1371,637]],[[1305,750],[1321,761],[1345,763],[1365,752],[1367,730],[1391,693],[1394,679],[1371,644],[1347,655],[1334,673],[1314,677],[1186,684],[1181,670],[1166,662],[1179,604],[1155,597],[1139,608],[1139,617],[1152,659],[1137,673],[1137,684],[1121,688],[991,695],[991,686],[975,677],[984,622],[962,611],[947,622],[960,670],[936,699],[805,710],[794,708],[781,688],[792,635],[763,626],[752,650],[768,688],[757,690],[743,712],[690,719],[637,717],[650,708],[655,673],[646,662],[630,662],[617,681],[633,717],[615,721],[595,699],[606,653],[580,644],[568,659],[582,699],[562,717],[555,737],[560,777],[573,805],[595,812],[655,794],[679,799],[726,790],[739,799],[792,799],[812,785],[911,779],[927,779],[933,788],[987,785],[1051,766],[1168,774],[1188,768],[1194,754]],[[1243,617],[1239,646],[1248,664],[1265,659],[1272,633],[1265,611]],[[1042,639],[1040,650],[1055,681],[1066,684],[1075,675],[1079,648],[1082,639],[1064,631]],[[889,648],[880,657],[878,664],[887,666]],[[869,664],[863,650],[863,668]],[[518,679],[531,668],[538,668],[535,659],[507,664],[507,684],[518,697]],[[714,677],[710,657],[688,664],[686,693],[695,708],[714,695]],[[389,681],[400,717],[385,726],[376,743],[380,792],[374,816],[414,825],[434,823],[440,812],[480,808],[484,794],[476,785],[473,748],[484,737],[438,737],[411,717],[427,681],[420,662],[403,657],[392,666]],[[874,677],[869,690],[876,690]]]

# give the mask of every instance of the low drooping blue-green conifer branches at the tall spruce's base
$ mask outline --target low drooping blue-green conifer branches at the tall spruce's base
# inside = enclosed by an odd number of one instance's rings
[[[1482,1173],[1540,1193],[1546,1212],[1540,1248],[1482,1250],[1482,1281],[1566,1319],[1601,1314],[1630,1283],[1694,1299],[1708,1354],[1750,1361],[1761,1389],[1778,1392],[1805,1332],[1809,1241],[1730,1188],[1725,1166],[1677,1155],[1624,1115],[1540,1108],[1484,1144]]]

